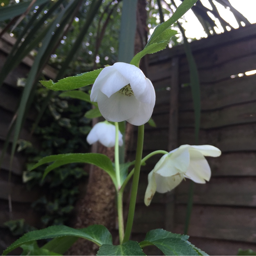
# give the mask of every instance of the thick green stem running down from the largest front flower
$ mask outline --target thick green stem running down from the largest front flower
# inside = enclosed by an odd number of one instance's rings
[[[136,149],[136,157],[135,157],[135,165],[134,165],[134,174],[132,180],[132,192],[131,192],[131,200],[128,211],[127,224],[124,233],[123,243],[127,242],[130,238],[132,232],[132,224],[135,212],[135,204],[136,197],[139,185],[139,177],[140,177],[140,164],[143,150],[143,139],[144,139],[144,124],[138,126],[138,140],[137,140],[137,149]]]

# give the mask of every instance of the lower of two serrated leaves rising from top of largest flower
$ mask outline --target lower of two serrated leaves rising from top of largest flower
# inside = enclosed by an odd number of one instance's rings
[[[164,50],[166,45],[169,43],[170,38],[176,35],[178,32],[172,29],[166,29],[159,37],[159,41],[156,43],[149,44],[141,52],[138,52],[131,60],[130,64],[139,66],[140,59],[146,54],[155,53]]]

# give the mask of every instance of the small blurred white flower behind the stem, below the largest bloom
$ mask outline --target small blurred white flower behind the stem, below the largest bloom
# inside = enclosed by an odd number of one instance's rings
[[[123,145],[123,135],[118,131],[118,145]],[[105,147],[114,147],[116,141],[116,127],[108,121],[99,122],[92,127],[89,132],[87,142],[91,145],[96,141],[99,141]]]

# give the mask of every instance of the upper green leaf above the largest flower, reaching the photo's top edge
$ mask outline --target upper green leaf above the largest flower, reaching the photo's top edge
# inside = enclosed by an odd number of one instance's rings
[[[195,3],[197,0],[184,0],[177,8],[177,10],[173,13],[172,17],[169,20],[159,24],[152,36],[149,38],[146,47],[150,44],[159,43],[161,42],[162,34],[164,31],[177,20],[179,20]]]

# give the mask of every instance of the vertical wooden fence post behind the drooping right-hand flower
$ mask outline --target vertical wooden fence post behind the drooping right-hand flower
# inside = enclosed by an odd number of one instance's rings
[[[168,151],[178,147],[178,95],[179,95],[179,58],[171,62],[171,96],[169,111]],[[174,192],[166,194],[165,229],[173,231],[174,225]]]

